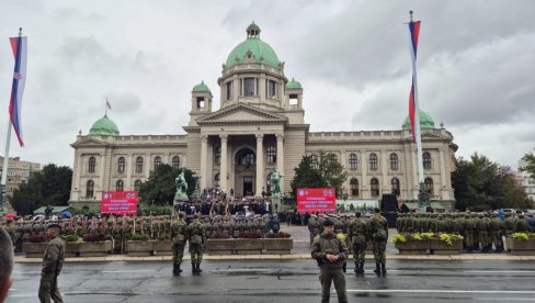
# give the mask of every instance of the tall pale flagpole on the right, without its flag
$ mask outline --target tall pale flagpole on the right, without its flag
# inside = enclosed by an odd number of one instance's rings
[[[409,11],[410,14],[410,24],[412,25],[414,22],[412,20],[412,11]],[[416,52],[414,52],[416,53]],[[422,136],[420,131],[420,103],[418,100],[418,74],[417,74],[417,54],[413,54],[414,58],[412,58],[412,86],[413,86],[413,98],[414,98],[414,139],[417,142],[417,161],[418,161],[418,181],[419,181],[419,194],[418,201],[420,206],[426,206],[426,201],[423,197],[425,189],[423,182],[423,153],[422,153]]]

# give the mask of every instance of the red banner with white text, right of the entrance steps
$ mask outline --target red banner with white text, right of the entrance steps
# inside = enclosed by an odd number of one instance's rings
[[[334,189],[297,189],[297,211],[333,213],[337,211],[337,191]]]

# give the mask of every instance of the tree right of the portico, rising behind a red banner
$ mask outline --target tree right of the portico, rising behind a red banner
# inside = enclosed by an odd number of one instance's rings
[[[334,154],[320,152],[317,167],[314,167],[311,156],[303,157],[294,168],[295,175],[291,182],[294,197],[297,197],[299,188],[335,188],[337,197],[342,197],[342,184],[348,179],[348,172],[333,156]]]

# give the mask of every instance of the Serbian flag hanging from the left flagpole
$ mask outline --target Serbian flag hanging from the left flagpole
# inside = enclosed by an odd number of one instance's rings
[[[15,130],[16,137],[19,138],[19,144],[24,146],[22,139],[21,111],[22,96],[24,94],[24,86],[26,85],[27,37],[10,37],[10,42],[15,57],[15,69],[13,71],[9,115],[11,117],[11,124],[13,124],[13,130]]]

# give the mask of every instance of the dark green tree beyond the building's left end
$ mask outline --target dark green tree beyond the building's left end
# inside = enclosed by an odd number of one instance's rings
[[[11,204],[25,215],[41,206],[66,206],[69,202],[72,169],[68,166],[48,164],[33,172],[25,183],[13,191]]]

